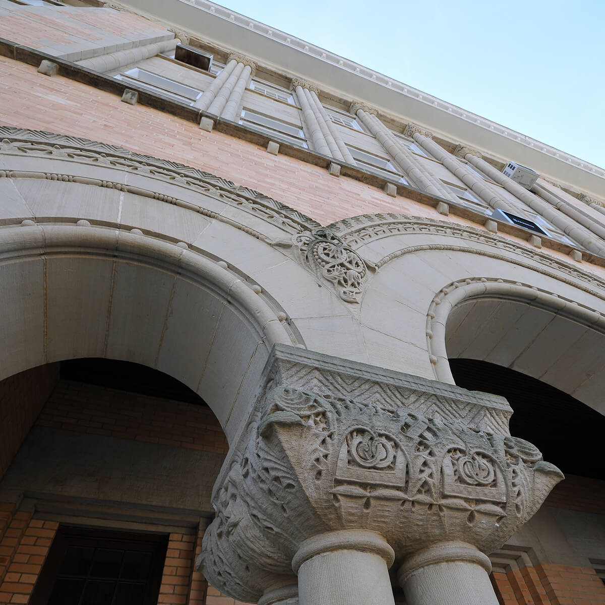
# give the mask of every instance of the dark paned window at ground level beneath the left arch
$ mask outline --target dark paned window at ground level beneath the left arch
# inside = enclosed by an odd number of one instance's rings
[[[167,535],[60,526],[30,605],[157,603]]]

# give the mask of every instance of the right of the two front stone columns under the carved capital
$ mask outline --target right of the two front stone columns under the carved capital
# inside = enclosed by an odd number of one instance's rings
[[[498,605],[489,558],[474,546],[444,543],[412,555],[399,568],[408,605]]]

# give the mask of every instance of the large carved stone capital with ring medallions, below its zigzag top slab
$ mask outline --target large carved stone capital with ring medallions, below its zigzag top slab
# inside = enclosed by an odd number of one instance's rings
[[[523,439],[283,386],[239,451],[215,491],[200,563],[248,601],[327,531],[378,532],[399,560],[446,540],[491,552],[563,478]]]

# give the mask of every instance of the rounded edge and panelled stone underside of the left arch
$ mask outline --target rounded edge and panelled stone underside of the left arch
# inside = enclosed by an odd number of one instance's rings
[[[259,287],[136,232],[25,222],[0,244],[1,378],[62,359],[134,361],[200,394],[227,434],[237,428],[272,345],[293,342]]]

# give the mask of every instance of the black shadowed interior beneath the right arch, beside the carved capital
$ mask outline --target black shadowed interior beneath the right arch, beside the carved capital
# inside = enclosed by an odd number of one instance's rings
[[[511,434],[534,443],[566,474],[605,479],[605,417],[531,376],[476,359],[450,359],[456,384],[508,399]]]

